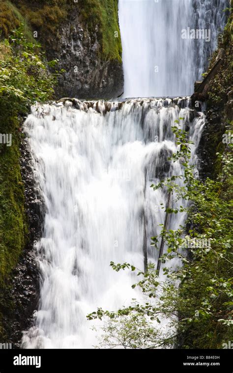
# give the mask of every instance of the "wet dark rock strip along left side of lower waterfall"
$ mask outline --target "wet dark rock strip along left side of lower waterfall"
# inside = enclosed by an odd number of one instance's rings
[[[29,237],[19,263],[12,271],[4,291],[3,328],[5,342],[20,347],[22,332],[33,324],[33,312],[38,306],[39,275],[34,242],[40,239],[44,217],[43,200],[34,185],[27,140],[21,144],[21,173],[25,184],[25,210],[28,216]]]

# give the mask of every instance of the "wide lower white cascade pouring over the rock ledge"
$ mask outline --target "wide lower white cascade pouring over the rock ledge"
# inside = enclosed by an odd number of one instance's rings
[[[150,185],[182,172],[167,159],[176,151],[174,121],[183,117],[180,128],[190,127],[193,162],[204,126],[204,114],[193,118],[187,98],[70,105],[37,105],[25,122],[46,207],[36,246],[40,305],[25,348],[91,347],[96,333],[86,315],[140,296],[131,288],[134,276],[113,271],[110,262],[143,269],[145,235],[148,260],[156,262],[150,237],[164,221],[167,196]],[[183,219],[176,215],[171,228]]]

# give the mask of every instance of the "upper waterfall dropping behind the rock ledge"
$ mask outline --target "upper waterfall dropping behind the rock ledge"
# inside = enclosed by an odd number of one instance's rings
[[[229,0],[119,0],[123,97],[193,93],[216,49]],[[182,29],[210,30],[210,41],[182,39]]]

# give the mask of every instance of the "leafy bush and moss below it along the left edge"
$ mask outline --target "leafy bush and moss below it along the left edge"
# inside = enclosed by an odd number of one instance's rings
[[[28,233],[19,161],[21,122],[32,103],[52,98],[56,81],[38,48],[25,39],[23,27],[0,42],[0,288],[7,285]],[[2,307],[0,299],[0,311]]]

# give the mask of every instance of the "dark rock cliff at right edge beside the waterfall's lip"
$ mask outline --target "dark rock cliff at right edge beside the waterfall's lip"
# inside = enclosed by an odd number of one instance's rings
[[[233,0],[232,0],[233,4]],[[217,75],[208,83],[206,102],[206,124],[199,144],[200,177],[215,179],[221,169],[216,153],[231,151],[223,141],[226,131],[232,132],[233,89],[232,89],[232,53],[231,43],[232,15],[228,19],[223,34],[219,37],[218,49],[212,55],[209,70],[213,67],[220,50],[224,51],[223,62]],[[232,140],[231,140],[232,142]]]

